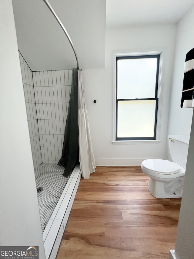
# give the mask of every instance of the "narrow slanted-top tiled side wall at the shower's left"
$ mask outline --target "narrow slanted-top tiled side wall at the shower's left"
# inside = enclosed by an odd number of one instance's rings
[[[19,52],[34,169],[42,164],[32,71]]]

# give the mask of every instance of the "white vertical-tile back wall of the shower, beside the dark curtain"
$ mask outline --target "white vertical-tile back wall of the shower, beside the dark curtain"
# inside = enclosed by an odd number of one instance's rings
[[[58,163],[62,155],[72,70],[38,71],[32,74],[42,162]]]

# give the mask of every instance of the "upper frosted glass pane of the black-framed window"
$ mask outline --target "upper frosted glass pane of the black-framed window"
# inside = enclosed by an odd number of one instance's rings
[[[157,58],[117,60],[117,99],[155,98]]]

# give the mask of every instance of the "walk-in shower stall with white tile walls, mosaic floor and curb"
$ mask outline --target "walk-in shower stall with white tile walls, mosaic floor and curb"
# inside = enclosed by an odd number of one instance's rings
[[[55,258],[81,179],[79,165],[68,177],[62,155],[72,70],[32,72],[19,52],[28,129],[46,258]],[[54,245],[54,246],[53,246]]]

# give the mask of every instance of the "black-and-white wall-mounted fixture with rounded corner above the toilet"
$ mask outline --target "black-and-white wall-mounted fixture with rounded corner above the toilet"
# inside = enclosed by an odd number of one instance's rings
[[[194,48],[186,54],[181,108],[194,106]]]

